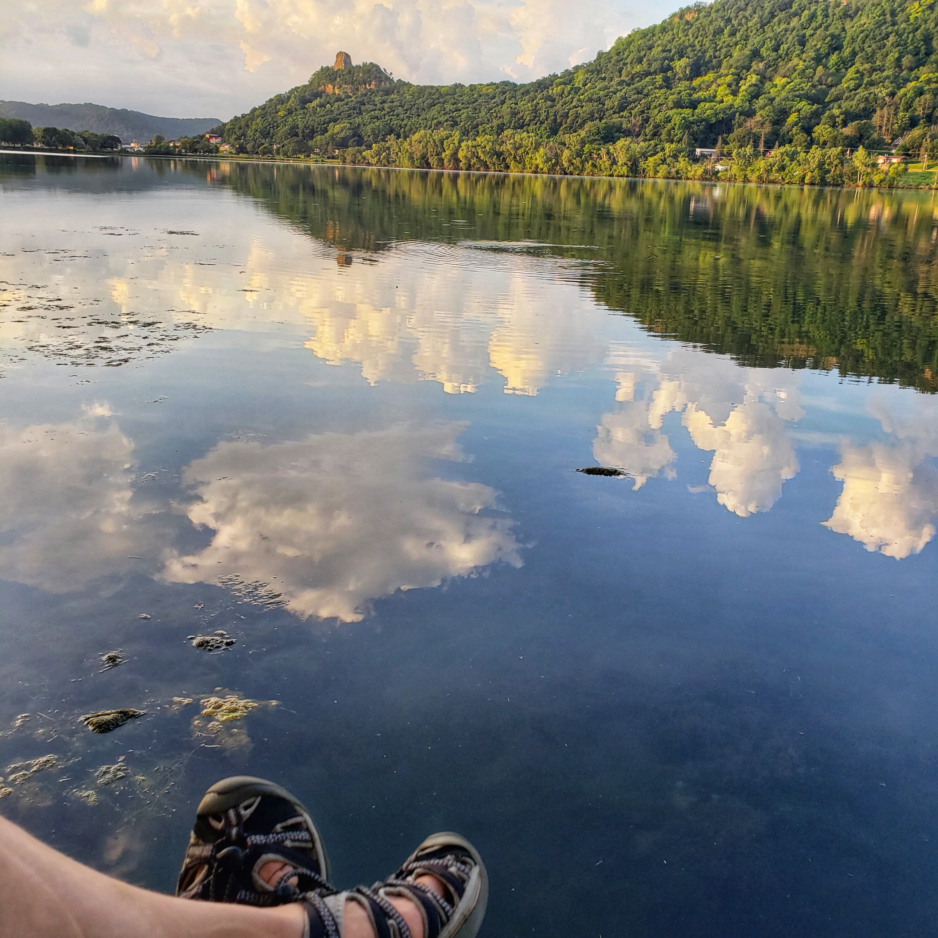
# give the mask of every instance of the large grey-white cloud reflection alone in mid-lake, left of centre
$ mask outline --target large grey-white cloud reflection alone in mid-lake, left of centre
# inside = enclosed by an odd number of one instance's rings
[[[199,501],[189,520],[214,532],[176,555],[164,577],[276,588],[308,618],[357,622],[372,599],[437,586],[504,560],[521,566],[511,522],[482,512],[496,493],[431,477],[428,458],[457,460],[460,424],[313,434],[263,446],[220,443],[189,464]]]

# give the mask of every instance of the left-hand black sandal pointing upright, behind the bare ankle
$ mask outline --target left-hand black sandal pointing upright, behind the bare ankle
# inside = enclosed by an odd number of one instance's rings
[[[267,884],[259,871],[271,862],[290,869]],[[176,895],[280,905],[299,893],[331,895],[328,880],[329,860],[310,812],[280,785],[239,775],[216,782],[199,802]]]

